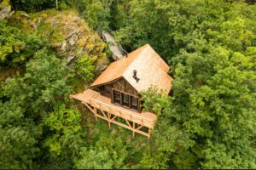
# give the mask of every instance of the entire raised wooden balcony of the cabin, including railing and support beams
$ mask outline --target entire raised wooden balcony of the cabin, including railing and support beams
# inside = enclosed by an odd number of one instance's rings
[[[154,113],[138,113],[137,111],[114,105],[109,98],[94,90],[86,89],[83,93],[70,95],[70,98],[78,99],[86,105],[96,116],[96,119],[99,117],[108,121],[109,127],[111,127],[111,123],[117,124],[130,129],[133,136],[135,133],[141,133],[149,139],[150,130],[154,129],[154,123],[157,119]]]

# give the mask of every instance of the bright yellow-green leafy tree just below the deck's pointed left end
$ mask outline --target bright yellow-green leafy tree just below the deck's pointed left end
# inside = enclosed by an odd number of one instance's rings
[[[65,105],[58,106],[55,112],[49,113],[44,119],[44,125],[52,132],[45,139],[44,146],[49,148],[51,156],[60,156],[61,152],[79,150],[81,143],[81,115],[78,111],[66,109]]]

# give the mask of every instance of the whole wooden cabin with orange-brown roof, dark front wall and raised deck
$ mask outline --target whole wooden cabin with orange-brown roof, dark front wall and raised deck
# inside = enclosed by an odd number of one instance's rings
[[[157,117],[143,112],[140,92],[150,86],[169,94],[172,77],[170,67],[149,44],[111,63],[90,88],[81,94],[70,95],[79,99],[97,117],[150,137]],[[118,119],[119,117],[119,119]],[[121,120],[121,121],[120,121]]]

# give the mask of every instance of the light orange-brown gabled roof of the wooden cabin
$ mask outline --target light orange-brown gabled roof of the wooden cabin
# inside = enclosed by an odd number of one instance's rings
[[[169,94],[172,88],[172,77],[168,75],[170,67],[161,59],[149,44],[137,48],[127,57],[114,61],[90,87],[108,84],[124,77],[137,92],[147,90],[151,85],[166,91]],[[137,82],[133,77],[133,71],[137,71]]]

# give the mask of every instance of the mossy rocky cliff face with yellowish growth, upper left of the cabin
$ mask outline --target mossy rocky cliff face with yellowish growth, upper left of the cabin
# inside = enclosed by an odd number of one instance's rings
[[[89,55],[96,62],[96,71],[102,71],[108,65],[104,53],[107,44],[75,11],[50,9],[34,14],[17,11],[9,22],[28,34],[36,33],[68,62],[78,55]]]

